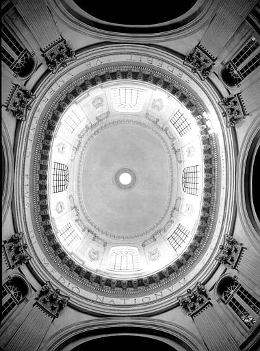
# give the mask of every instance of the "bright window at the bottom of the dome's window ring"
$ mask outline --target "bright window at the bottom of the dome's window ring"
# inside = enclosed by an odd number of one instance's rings
[[[112,250],[109,256],[109,269],[115,271],[135,271],[139,269],[138,252],[131,249]]]

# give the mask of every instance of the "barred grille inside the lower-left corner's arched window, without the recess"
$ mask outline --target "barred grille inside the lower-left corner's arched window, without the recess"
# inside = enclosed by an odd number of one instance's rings
[[[20,289],[12,280],[9,280],[2,286],[2,319],[19,304],[22,297]]]

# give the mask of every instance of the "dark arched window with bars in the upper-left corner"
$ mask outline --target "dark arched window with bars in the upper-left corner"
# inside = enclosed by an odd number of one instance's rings
[[[1,34],[2,61],[19,77],[27,77],[34,69],[34,59],[3,23],[1,23]]]

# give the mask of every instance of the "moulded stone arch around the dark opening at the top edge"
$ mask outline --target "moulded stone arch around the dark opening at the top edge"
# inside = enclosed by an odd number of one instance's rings
[[[77,3],[68,0],[53,1],[51,9],[59,19],[66,21],[70,27],[80,33],[88,33],[107,41],[112,39],[117,42],[124,40],[131,43],[142,43],[145,38],[146,42],[153,41],[155,43],[158,40],[158,33],[160,33],[159,38],[171,40],[195,32],[196,29],[203,27],[205,21],[211,19],[213,11],[216,10],[216,5],[216,1],[197,0],[190,10],[176,19],[146,25],[118,24],[113,23],[113,20],[103,21],[85,12]]]

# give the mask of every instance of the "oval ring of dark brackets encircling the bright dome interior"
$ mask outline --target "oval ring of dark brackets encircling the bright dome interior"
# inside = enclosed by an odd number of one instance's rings
[[[35,215],[39,219],[40,238],[44,244],[47,243],[49,247],[51,247],[53,261],[55,261],[58,267],[61,267],[63,272],[64,270],[68,271],[70,278],[74,278],[77,283],[85,287],[85,289],[94,289],[95,291],[102,291],[103,293],[107,292],[109,294],[119,293],[121,295],[124,295],[125,293],[127,295],[131,295],[131,293],[136,294],[138,291],[140,293],[145,293],[145,291],[151,291],[151,289],[154,288],[159,289],[159,287],[163,287],[172,280],[179,278],[185,273],[185,271],[187,271],[187,269],[192,267],[198,256],[200,256],[205,249],[209,239],[210,232],[208,229],[211,226],[214,215],[214,209],[211,206],[212,194],[216,193],[217,186],[217,184],[214,184],[212,181],[212,178],[207,178],[205,176],[203,204],[194,239],[177,261],[156,274],[144,278],[128,280],[108,278],[81,267],[81,265],[75,262],[73,258],[68,256],[63,250],[60,243],[55,239],[55,234],[51,226],[49,208],[47,205],[47,175],[44,175],[44,173],[48,173],[49,152],[55,126],[66,107],[73,101],[73,99],[88,90],[88,88],[111,80],[129,79],[149,82],[155,86],[164,88],[169,94],[177,97],[179,101],[191,111],[192,116],[196,119],[200,128],[202,143],[204,143],[207,138],[211,144],[211,139],[214,136],[209,134],[204,117],[201,115],[203,113],[203,108],[199,106],[197,101],[194,101],[194,97],[191,96],[186,88],[181,86],[181,84],[172,77],[161,75],[161,73],[155,71],[155,69],[135,66],[134,64],[118,64],[116,66],[109,66],[109,68],[105,67],[104,69],[92,71],[91,73],[84,75],[80,80],[77,79],[74,84],[70,84],[70,91],[66,91],[63,96],[60,94],[59,97],[57,97],[55,104],[53,103],[53,106],[56,107],[48,111],[46,116],[47,119],[44,121],[45,128],[41,130],[40,135],[38,136],[38,140],[40,140],[41,143],[38,152],[36,150],[35,160],[40,164],[39,167],[42,172],[39,172],[34,178],[34,184],[37,184],[38,186],[38,189],[34,194],[34,209]],[[216,153],[216,150],[212,147],[203,149],[205,175],[212,173],[212,163],[213,160],[216,160],[216,155],[214,155],[214,153]],[[35,186],[34,189],[36,189]],[[176,206],[178,206],[178,203]]]

